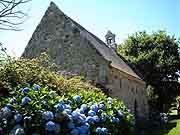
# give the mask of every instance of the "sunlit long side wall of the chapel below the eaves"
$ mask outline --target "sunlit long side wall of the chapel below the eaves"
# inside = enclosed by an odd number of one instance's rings
[[[132,113],[138,117],[148,116],[146,84],[113,67],[109,68],[108,83],[112,97],[124,102]]]

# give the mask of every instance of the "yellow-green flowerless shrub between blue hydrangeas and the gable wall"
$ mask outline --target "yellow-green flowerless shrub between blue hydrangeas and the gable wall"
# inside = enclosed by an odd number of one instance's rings
[[[4,87],[14,90],[18,85],[40,84],[57,90],[58,94],[66,94],[68,90],[94,89],[87,83],[81,83],[82,77],[65,79],[57,74],[56,66],[49,62],[49,57],[45,54],[37,59],[18,59],[5,64],[0,70],[0,80]]]

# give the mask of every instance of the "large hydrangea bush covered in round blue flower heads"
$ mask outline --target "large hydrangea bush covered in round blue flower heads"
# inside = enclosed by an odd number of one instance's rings
[[[130,135],[134,117],[122,102],[99,91],[65,96],[39,85],[1,98],[0,134]]]

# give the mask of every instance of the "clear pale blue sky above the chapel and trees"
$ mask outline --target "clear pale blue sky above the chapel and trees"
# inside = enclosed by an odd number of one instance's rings
[[[180,37],[180,0],[53,0],[69,17],[101,40],[107,30],[116,34],[117,43],[128,35],[146,30],[166,30]],[[0,31],[0,42],[13,56],[20,56],[40,22],[50,0],[32,0],[23,10],[28,17],[22,31]]]

